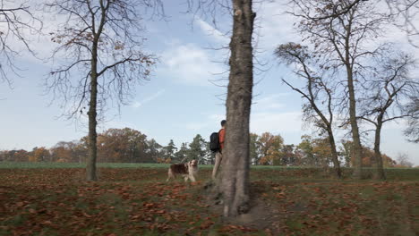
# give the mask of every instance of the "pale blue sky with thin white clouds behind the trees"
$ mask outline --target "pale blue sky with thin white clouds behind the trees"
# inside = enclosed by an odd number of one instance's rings
[[[98,131],[109,128],[132,128],[167,145],[170,139],[177,147],[191,142],[196,134],[209,140],[209,135],[220,128],[225,119],[227,94],[225,33],[231,27],[226,17],[218,21],[215,29],[209,19],[184,13],[185,5],[166,1],[167,21],[143,21],[148,38],[144,47],[157,55],[150,81],[135,88],[129,105],[118,110],[110,107],[106,121],[98,124]],[[293,79],[292,72],[280,65],[273,56],[279,44],[301,40],[293,30],[295,19],[284,13],[284,1],[258,4],[255,29],[255,65],[251,113],[251,131],[261,134],[269,131],[280,134],[286,144],[298,144],[301,136],[314,133],[302,122],[303,98],[288,89],[282,78]],[[48,26],[58,21],[46,18]],[[406,43],[403,33],[387,32],[408,50],[417,50]],[[34,38],[33,48],[38,57],[47,58],[54,48],[47,36]],[[20,46],[16,43],[16,46]],[[416,55],[419,55],[416,53]],[[85,119],[77,122],[60,117],[63,101],[52,100],[45,94],[44,82],[51,70],[51,63],[22,53],[16,63],[23,69],[20,76],[9,73],[12,88],[0,84],[0,150],[53,147],[58,141],[81,139],[87,135]],[[396,158],[406,154],[410,161],[419,165],[419,145],[406,141],[403,136],[404,122],[386,124],[382,131],[382,152]],[[370,135],[372,137],[372,135]],[[371,147],[372,142],[365,145]]]

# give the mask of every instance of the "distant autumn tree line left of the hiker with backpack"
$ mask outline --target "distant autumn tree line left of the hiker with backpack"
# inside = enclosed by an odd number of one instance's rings
[[[27,150],[0,151],[0,161],[85,163],[88,157],[88,137],[60,141],[54,147],[34,147]],[[197,134],[191,143],[176,147],[173,140],[167,146],[130,128],[109,129],[98,134],[98,162],[101,163],[177,163],[198,159],[211,164],[208,142]]]

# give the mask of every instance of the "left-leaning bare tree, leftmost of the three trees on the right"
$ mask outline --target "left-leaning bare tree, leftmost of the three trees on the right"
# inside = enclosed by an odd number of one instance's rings
[[[295,65],[295,74],[304,79],[304,88],[302,89],[296,88],[284,79],[283,81],[307,100],[308,104],[304,105],[306,120],[313,122],[321,131],[327,132],[335,173],[338,178],[341,178],[342,172],[333,132],[333,101],[336,86],[329,82],[335,79],[333,78],[333,72],[330,72],[332,70],[317,62],[316,58],[313,57],[314,54],[309,52],[307,46],[295,43],[280,45],[277,47],[275,55],[278,56],[281,63]]]

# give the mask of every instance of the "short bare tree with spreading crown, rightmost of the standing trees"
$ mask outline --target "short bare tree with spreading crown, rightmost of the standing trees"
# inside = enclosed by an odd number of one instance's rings
[[[409,72],[415,66],[412,56],[387,51],[378,58],[378,68],[372,78],[364,83],[365,96],[361,99],[361,119],[372,123],[374,129],[374,156],[372,166],[374,178],[385,180],[381,158],[381,129],[385,122],[410,116],[406,111],[406,99],[419,91],[419,83],[411,78]]]

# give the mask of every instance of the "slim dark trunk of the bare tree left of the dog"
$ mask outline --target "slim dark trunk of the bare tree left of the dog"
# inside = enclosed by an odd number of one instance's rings
[[[90,72],[90,103],[89,103],[89,156],[87,161],[87,180],[88,181],[97,181],[98,177],[96,175],[96,159],[98,156],[98,147],[96,132],[97,125],[97,104],[98,104],[98,55],[97,55],[97,46],[93,46],[92,49],[92,60],[91,60],[91,72]]]

